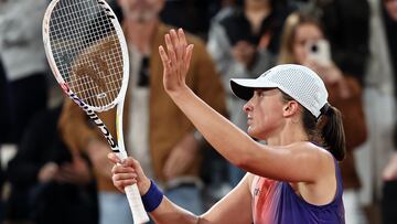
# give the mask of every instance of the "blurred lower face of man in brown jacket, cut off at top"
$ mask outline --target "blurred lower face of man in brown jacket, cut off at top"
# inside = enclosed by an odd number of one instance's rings
[[[125,18],[135,22],[148,22],[157,19],[164,0],[118,0]]]

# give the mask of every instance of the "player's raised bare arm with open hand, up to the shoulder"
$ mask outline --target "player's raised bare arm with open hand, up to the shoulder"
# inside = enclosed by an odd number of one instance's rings
[[[185,84],[193,45],[183,31],[165,35],[163,84],[167,93],[205,139],[234,164],[261,177],[291,182],[315,182],[320,174],[332,173],[332,157],[309,142],[273,148],[254,141],[248,135],[201,100]],[[331,171],[331,172],[330,172]]]

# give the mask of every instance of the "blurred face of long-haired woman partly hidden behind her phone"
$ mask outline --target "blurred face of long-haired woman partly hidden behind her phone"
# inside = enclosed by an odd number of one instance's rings
[[[298,25],[292,43],[292,54],[298,64],[303,64],[308,57],[308,45],[323,39],[320,28],[313,23]]]

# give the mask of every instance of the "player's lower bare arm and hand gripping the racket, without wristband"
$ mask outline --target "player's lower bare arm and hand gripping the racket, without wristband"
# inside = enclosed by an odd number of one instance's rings
[[[137,160],[127,158],[121,162],[115,153],[109,153],[108,158],[115,163],[111,172],[114,184],[118,190],[124,192],[126,185],[137,183],[141,195],[149,191],[151,182]],[[222,224],[230,223],[230,220],[234,223],[251,223],[250,179],[247,174],[232,192],[201,216],[178,206],[165,196],[150,215],[155,223]]]

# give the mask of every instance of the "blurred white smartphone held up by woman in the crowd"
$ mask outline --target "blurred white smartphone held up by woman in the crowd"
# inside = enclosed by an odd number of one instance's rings
[[[324,40],[318,40],[314,42],[308,43],[308,56],[310,60],[315,61],[320,65],[330,65],[331,64],[331,50],[330,43]]]

